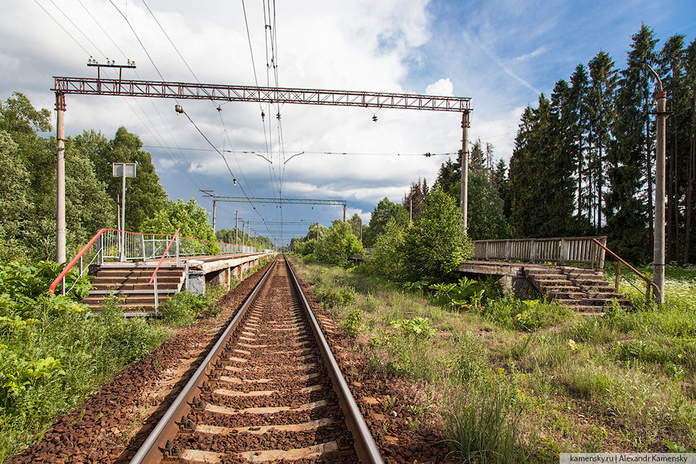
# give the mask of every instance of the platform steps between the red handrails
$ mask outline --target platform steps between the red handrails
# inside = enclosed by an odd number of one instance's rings
[[[83,298],[90,310],[98,311],[110,295],[118,296],[119,306],[127,316],[155,314],[155,288],[148,285],[153,264],[104,263],[95,269],[93,289]],[[161,305],[185,282],[184,266],[161,266],[157,271],[157,301]]]

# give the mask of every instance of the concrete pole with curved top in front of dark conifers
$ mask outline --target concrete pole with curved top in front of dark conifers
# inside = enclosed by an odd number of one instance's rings
[[[646,63],[647,64],[647,63]],[[660,294],[653,291],[653,298],[660,304],[665,303],[665,118],[667,118],[667,93],[663,90],[662,80],[650,66],[650,71],[657,79],[657,143],[655,146],[655,223],[653,247],[653,282],[660,289]]]

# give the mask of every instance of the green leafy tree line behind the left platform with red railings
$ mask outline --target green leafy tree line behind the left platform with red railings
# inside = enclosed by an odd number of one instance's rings
[[[0,262],[54,259],[56,253],[56,138],[51,113],[22,93],[0,101]],[[113,138],[83,131],[65,141],[65,220],[68,256],[102,227],[116,228],[121,179],[111,163],[138,163],[127,179],[125,230],[216,239],[205,208],[193,198],[168,200],[150,153],[120,127]],[[245,243],[251,244],[246,237]],[[258,243],[268,243],[263,237]],[[263,245],[262,245],[263,246]]]

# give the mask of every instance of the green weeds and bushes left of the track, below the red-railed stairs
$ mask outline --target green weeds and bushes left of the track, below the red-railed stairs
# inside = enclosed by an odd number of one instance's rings
[[[95,315],[78,303],[88,278],[67,296],[47,295],[61,269],[52,262],[0,266],[0,463],[41,440],[56,417],[148,355],[172,327],[219,314],[224,293],[182,291],[162,305],[161,319],[125,319],[117,298]],[[68,287],[75,277],[68,275]]]

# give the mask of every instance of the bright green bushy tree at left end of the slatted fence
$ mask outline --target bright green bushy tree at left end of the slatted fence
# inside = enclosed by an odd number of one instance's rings
[[[431,191],[422,214],[404,236],[404,278],[440,280],[457,269],[473,253],[463,226],[459,206],[452,197],[441,189]]]

